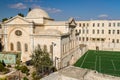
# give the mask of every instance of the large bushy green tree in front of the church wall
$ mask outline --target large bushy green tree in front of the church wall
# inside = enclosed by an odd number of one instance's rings
[[[49,72],[53,65],[53,62],[49,58],[49,53],[46,51],[46,49],[42,50],[41,47],[38,45],[37,48],[33,51],[31,57],[37,75],[43,75]]]

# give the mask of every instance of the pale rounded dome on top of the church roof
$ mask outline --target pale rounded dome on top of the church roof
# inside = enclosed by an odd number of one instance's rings
[[[26,18],[49,18],[47,12],[40,8],[32,9],[26,16]]]

